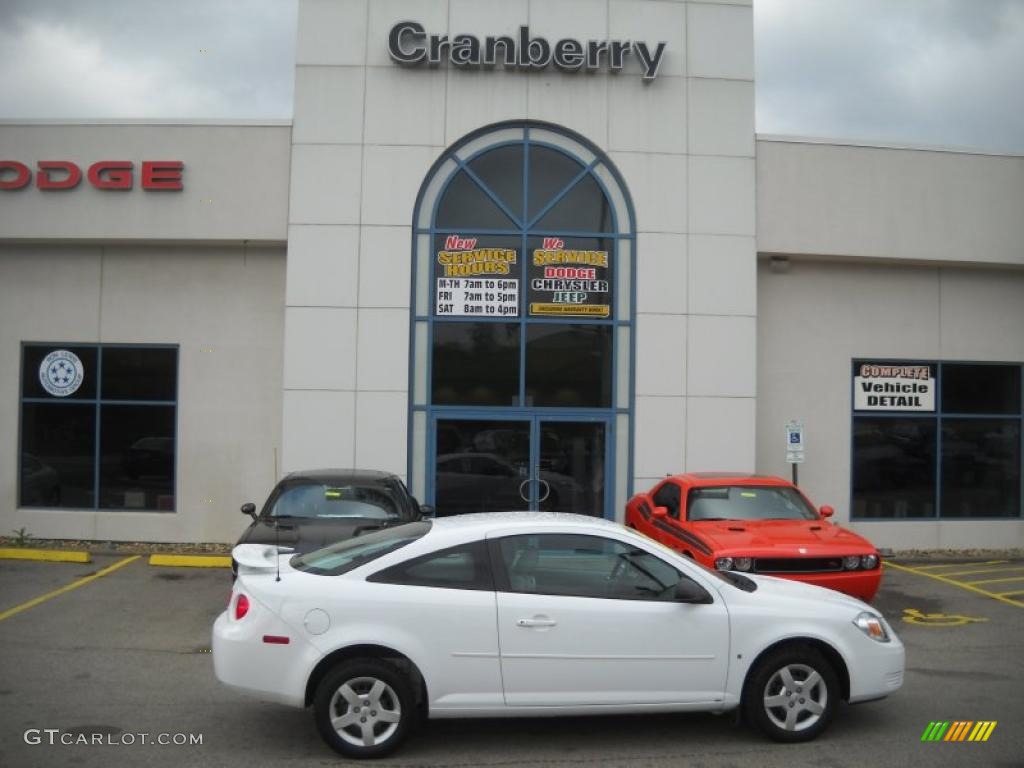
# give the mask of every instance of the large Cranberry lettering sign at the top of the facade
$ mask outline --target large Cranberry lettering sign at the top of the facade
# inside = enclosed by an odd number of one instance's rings
[[[543,37],[532,37],[529,27],[519,28],[515,37],[488,35],[427,34],[418,22],[398,22],[388,35],[387,49],[400,65],[437,67],[447,60],[456,67],[492,68],[498,63],[521,70],[544,70],[554,63],[565,72],[595,72],[607,68],[618,72],[630,55],[639,61],[645,83],[657,77],[667,43],[653,50],[647,43],[632,40],[574,40],[564,38],[554,44]]]

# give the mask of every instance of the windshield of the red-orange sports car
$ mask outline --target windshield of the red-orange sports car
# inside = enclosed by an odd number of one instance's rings
[[[687,520],[816,520],[795,488],[777,485],[716,485],[692,488]]]

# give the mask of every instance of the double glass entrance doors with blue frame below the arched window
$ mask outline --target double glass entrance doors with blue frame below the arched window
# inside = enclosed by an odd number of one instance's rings
[[[545,510],[607,514],[605,418],[438,418],[433,506],[439,516]]]

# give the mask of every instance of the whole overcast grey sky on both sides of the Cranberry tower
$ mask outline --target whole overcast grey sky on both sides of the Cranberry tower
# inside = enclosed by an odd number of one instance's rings
[[[1024,153],[1024,0],[754,5],[760,133]],[[290,118],[295,15],[0,0],[0,118]]]

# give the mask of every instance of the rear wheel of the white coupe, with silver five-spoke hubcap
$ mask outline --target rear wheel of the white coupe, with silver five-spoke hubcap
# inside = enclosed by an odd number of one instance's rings
[[[417,717],[409,678],[376,658],[335,667],[316,686],[313,716],[324,740],[348,758],[382,758],[409,735]]]

